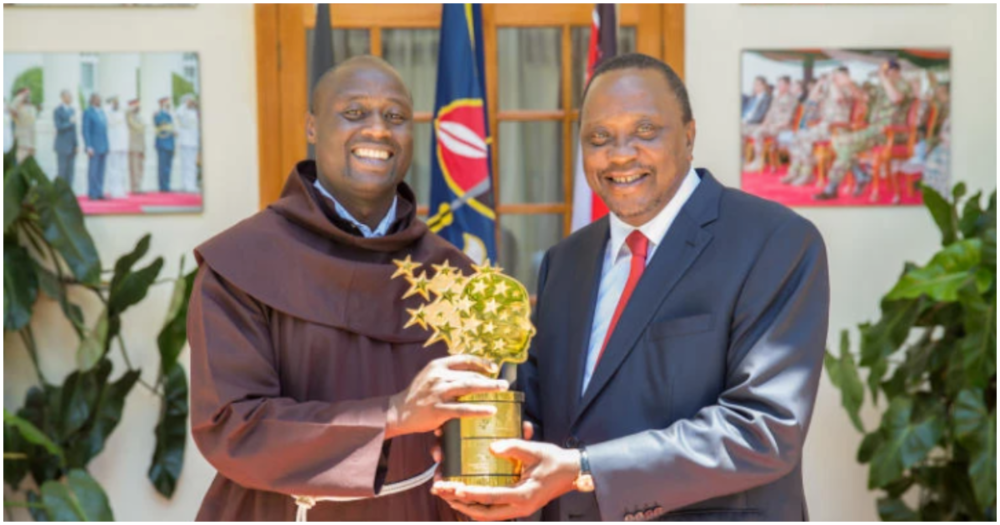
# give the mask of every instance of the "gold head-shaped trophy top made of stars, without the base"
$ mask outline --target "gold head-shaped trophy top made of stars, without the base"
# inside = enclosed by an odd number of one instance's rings
[[[465,276],[445,261],[431,266],[432,278],[426,272],[418,275],[423,265],[411,257],[395,265],[398,270],[392,278],[404,278],[410,284],[403,299],[419,295],[430,301],[407,310],[410,320],[404,327],[430,330],[426,346],[443,342],[452,355],[483,357],[498,368],[527,361],[535,327],[531,299],[523,284],[489,262],[473,266],[475,273]]]

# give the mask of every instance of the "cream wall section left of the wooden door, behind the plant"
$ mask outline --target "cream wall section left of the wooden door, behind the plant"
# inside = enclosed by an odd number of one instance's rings
[[[257,211],[257,79],[252,2],[203,2],[194,9],[10,9],[4,8],[3,52],[192,51],[201,58],[205,146],[205,212],[201,215],[115,217],[87,220],[105,267],[130,251],[146,233],[152,251],[167,261],[163,276],[175,276],[183,254]],[[125,337],[143,377],[155,381],[155,338],[166,316],[171,290],[157,289],[124,319]],[[82,298],[86,299],[86,298]],[[89,306],[88,320],[96,315]],[[44,308],[37,333],[46,374],[61,379],[73,366],[74,343],[58,312]],[[92,322],[92,321],[90,321]],[[3,341],[3,406],[22,405],[32,385],[30,364],[16,338]],[[187,356],[183,358],[187,366]],[[124,370],[113,356],[116,375]],[[214,471],[189,441],[187,461],[173,501],[159,497],[146,479],[155,439],[158,401],[137,388],[122,425],[92,473],[108,491],[119,522],[194,521]],[[4,489],[7,495],[7,489]],[[6,523],[7,517],[4,516]],[[27,521],[19,515],[18,521]]]

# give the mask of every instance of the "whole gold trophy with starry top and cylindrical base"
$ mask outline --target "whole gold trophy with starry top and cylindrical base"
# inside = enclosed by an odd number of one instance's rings
[[[524,285],[503,274],[487,262],[473,266],[475,273],[465,276],[448,262],[432,266],[434,276],[417,274],[422,266],[410,257],[396,261],[399,271],[393,279],[405,278],[410,289],[403,296],[419,295],[427,304],[408,310],[406,328],[420,326],[433,335],[426,346],[443,342],[451,355],[482,357],[497,365],[497,379],[503,364],[522,364],[528,359],[528,347],[535,336],[531,324],[531,299]],[[433,297],[433,300],[432,300]],[[480,487],[510,487],[521,479],[521,465],[494,457],[490,446],[507,439],[521,439],[521,406],[524,394],[499,392],[465,396],[460,403],[495,407],[491,418],[451,421],[444,427],[444,462],[446,481]]]

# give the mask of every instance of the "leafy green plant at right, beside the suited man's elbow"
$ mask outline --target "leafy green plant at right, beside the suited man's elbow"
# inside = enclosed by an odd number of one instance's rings
[[[844,332],[826,368],[851,421],[867,369],[872,402],[886,408],[866,433],[858,461],[886,523],[997,522],[997,193],[989,208],[966,188],[947,201],[924,188],[944,248],[926,266],[907,264],[882,303],[882,318],[860,327],[860,355]],[[904,502],[912,496],[916,509]]]

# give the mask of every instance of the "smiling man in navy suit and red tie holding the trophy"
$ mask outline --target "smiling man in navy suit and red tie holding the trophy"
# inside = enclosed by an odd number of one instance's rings
[[[435,493],[490,522],[808,521],[802,451],[829,315],[819,232],[692,169],[687,90],[658,60],[595,72],[580,140],[612,215],[543,264],[519,371],[536,442],[493,448],[522,480]]]

